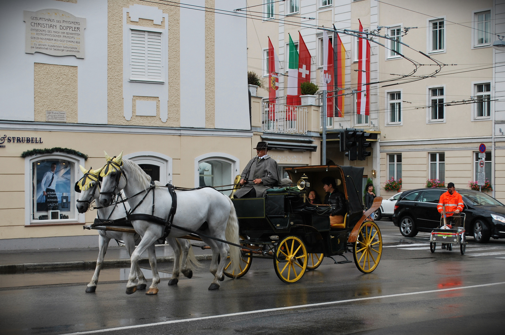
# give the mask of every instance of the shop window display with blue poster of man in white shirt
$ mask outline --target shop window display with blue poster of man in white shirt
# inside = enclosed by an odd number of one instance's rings
[[[32,223],[76,219],[74,165],[58,158],[32,161]]]

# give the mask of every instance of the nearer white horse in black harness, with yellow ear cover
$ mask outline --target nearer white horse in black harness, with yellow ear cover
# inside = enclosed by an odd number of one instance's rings
[[[172,196],[165,187],[155,182],[157,187],[147,191],[150,187],[149,176],[142,171],[140,166],[129,159],[122,159],[122,153],[117,157],[109,157],[106,153],[107,163],[100,173],[102,176],[102,192],[100,203],[108,206],[113,202],[113,194],[123,189],[133,214],[148,214],[167,220],[171,212]],[[213,188],[202,188],[191,191],[176,191],[177,208],[173,217],[173,224],[196,232],[205,234],[235,244],[239,243],[238,220],[231,200]],[[164,236],[165,226],[157,223],[156,219],[132,219],[132,225],[137,233],[142,236],[142,241],[131,256],[131,269],[126,286],[126,293],[132,294],[137,290],[134,283],[135,267],[138,258],[145,251],[149,252],[149,261],[153,269],[153,283],[145,294],[157,294],[160,277],[156,267],[156,257],[151,255],[148,248],[154,241]],[[159,221],[158,221],[159,222]],[[167,238],[187,235],[186,231],[172,227]],[[237,247],[229,246],[210,238],[201,236],[212,250],[210,271],[214,274],[209,290],[219,289],[219,281],[224,280],[224,261],[218,264],[218,257],[225,260],[230,253],[231,268],[239,273],[240,251]],[[174,250],[175,251],[175,250]],[[177,257],[177,254],[176,254]],[[178,277],[178,262],[174,261],[173,279]],[[155,274],[156,272],[156,274]],[[170,285],[170,283],[169,283]]]

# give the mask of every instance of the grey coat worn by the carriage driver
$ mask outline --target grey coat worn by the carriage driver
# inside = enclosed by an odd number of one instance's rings
[[[244,171],[240,175],[240,179],[245,179],[246,183],[235,192],[235,197],[240,198],[249,192],[253,187],[257,197],[264,196],[264,193],[269,188],[277,186],[281,178],[279,176],[279,166],[275,159],[267,155],[267,158],[259,159],[257,157],[249,160]],[[261,183],[256,185],[252,181],[261,179]]]

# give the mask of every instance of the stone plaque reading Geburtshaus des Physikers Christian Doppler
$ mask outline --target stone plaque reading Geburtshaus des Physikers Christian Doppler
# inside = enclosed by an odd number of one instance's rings
[[[26,22],[25,52],[84,58],[86,19],[59,9],[23,11]]]

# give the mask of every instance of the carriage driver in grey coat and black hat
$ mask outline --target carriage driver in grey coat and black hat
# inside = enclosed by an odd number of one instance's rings
[[[257,156],[249,160],[240,175],[241,187],[235,192],[235,198],[263,197],[266,190],[280,182],[279,166],[275,159],[267,155],[268,143],[258,142]]]

